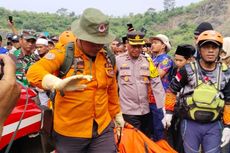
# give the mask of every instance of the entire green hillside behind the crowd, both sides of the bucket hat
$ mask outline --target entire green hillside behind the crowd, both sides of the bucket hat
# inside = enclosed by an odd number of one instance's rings
[[[193,44],[193,31],[203,22],[210,22],[214,29],[224,36],[230,36],[230,0],[203,0],[187,7],[178,7],[171,11],[156,12],[153,8],[144,14],[133,14],[123,17],[110,17],[111,30],[117,37],[124,36],[127,32],[127,23],[133,23],[139,30],[144,27],[146,36],[163,33],[169,36],[173,48],[180,43]],[[50,13],[34,13],[26,11],[9,11],[0,8],[0,32],[9,31],[7,27],[8,15],[14,16],[17,29],[34,29],[59,34],[66,30],[71,22],[79,16],[58,15]]]

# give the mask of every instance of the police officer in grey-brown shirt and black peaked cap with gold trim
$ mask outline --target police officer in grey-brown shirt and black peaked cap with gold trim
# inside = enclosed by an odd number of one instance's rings
[[[148,86],[158,108],[164,106],[165,92],[151,57],[142,54],[144,33],[127,34],[127,52],[116,57],[121,108],[125,121],[150,136]]]

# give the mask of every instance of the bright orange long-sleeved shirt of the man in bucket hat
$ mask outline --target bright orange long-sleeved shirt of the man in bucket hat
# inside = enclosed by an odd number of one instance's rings
[[[116,76],[115,73],[112,76],[111,73],[107,75],[105,68],[107,60],[103,51],[99,51],[95,62],[92,62],[75,44],[74,57],[80,57],[84,61],[82,73],[92,75],[93,79],[92,81],[80,81],[80,83],[87,85],[84,91],[65,92],[64,96],[57,92],[54,130],[59,134],[91,138],[93,120],[98,124],[98,134],[101,134],[111,122],[111,118],[120,112]],[[43,77],[57,71],[64,58],[64,47],[51,50],[44,58],[29,68],[27,72],[29,83],[41,88]],[[73,74],[74,66],[71,67],[66,77]]]

